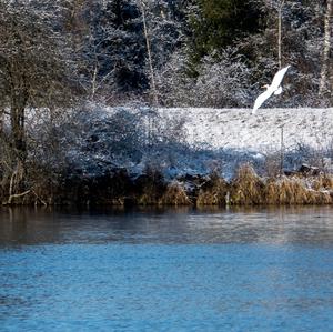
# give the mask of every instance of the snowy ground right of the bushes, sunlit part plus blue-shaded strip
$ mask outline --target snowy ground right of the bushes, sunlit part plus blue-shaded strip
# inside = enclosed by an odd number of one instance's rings
[[[180,154],[178,169],[189,165],[202,173],[216,165],[230,179],[249,161],[265,173],[268,159],[276,167],[281,152],[289,170],[302,163],[333,169],[333,108],[259,109],[255,115],[250,109],[188,108],[161,109],[160,114],[184,118],[186,141],[198,151]]]

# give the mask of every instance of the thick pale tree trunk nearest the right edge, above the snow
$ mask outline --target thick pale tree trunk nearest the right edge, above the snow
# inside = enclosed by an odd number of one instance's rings
[[[332,29],[332,9],[333,9],[333,0],[326,0],[326,13],[324,19],[324,44],[323,44],[323,54],[322,54],[322,69],[321,69],[321,80],[320,80],[320,89],[319,94],[325,95],[330,92],[329,84],[329,61],[330,61],[330,49],[331,49],[331,29]]]

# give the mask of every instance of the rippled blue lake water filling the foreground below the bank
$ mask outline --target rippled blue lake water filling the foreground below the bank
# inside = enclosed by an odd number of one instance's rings
[[[2,209],[0,331],[333,331],[333,209]]]

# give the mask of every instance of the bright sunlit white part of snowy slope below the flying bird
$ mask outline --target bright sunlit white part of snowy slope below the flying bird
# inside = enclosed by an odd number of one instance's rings
[[[274,151],[302,144],[323,149],[333,142],[333,109],[163,109],[167,117],[185,117],[188,141],[212,148]]]

